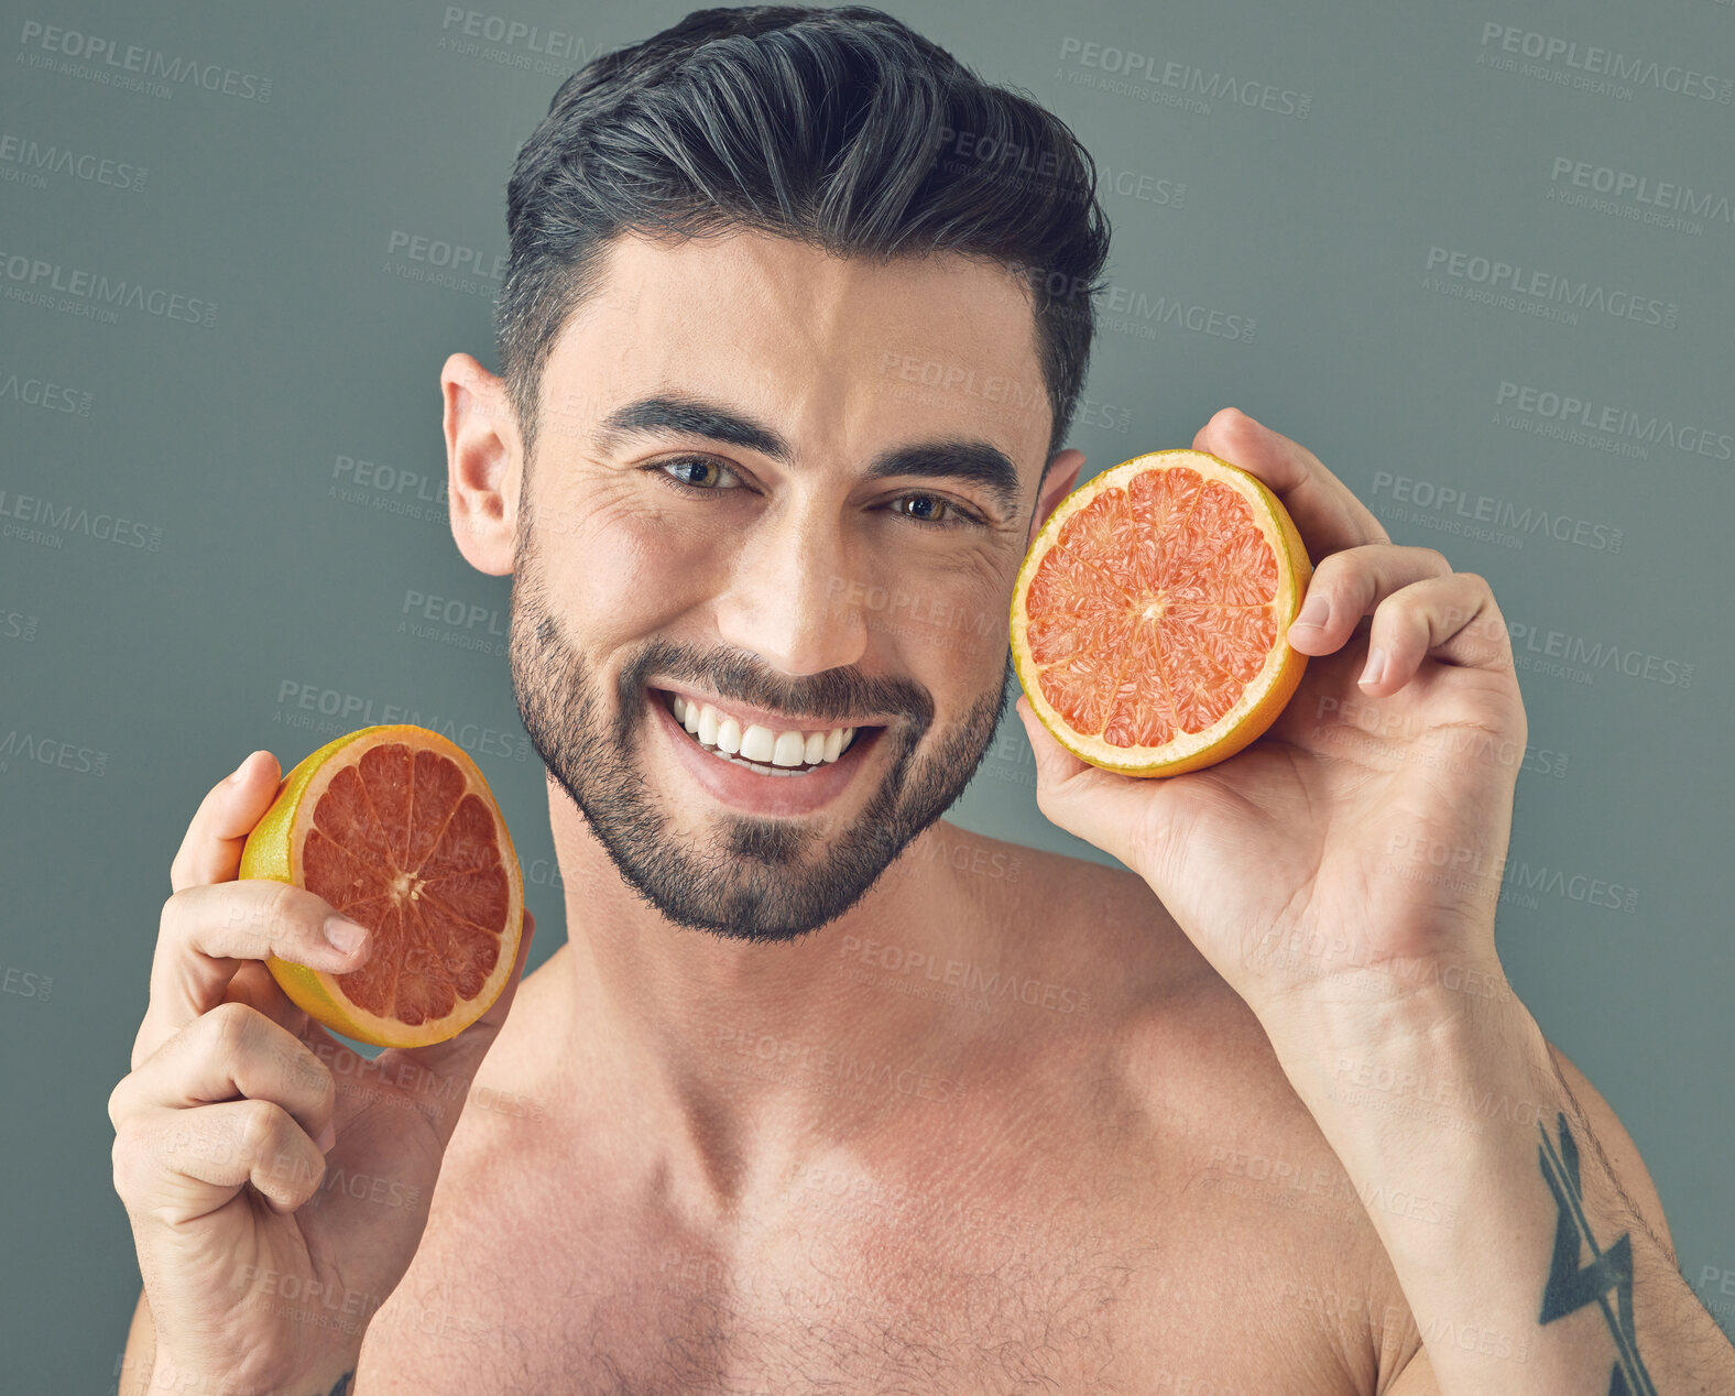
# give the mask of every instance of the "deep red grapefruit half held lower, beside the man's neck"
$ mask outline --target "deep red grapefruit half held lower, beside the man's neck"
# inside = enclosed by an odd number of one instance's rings
[[[524,924],[517,853],[482,772],[425,727],[364,727],[283,777],[241,877],[293,883],[368,928],[331,975],[267,957],[290,1001],[380,1047],[456,1037],[507,987]]]

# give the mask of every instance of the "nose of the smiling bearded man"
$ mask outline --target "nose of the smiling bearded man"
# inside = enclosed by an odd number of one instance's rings
[[[789,675],[861,661],[868,626],[854,577],[854,550],[829,512],[805,503],[762,515],[730,567],[717,605],[720,638]]]

